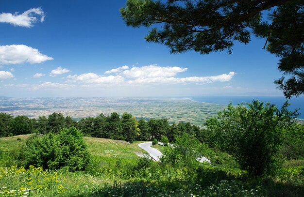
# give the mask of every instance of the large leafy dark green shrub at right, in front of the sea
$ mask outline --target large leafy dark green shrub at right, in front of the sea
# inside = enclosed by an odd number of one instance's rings
[[[232,154],[242,169],[253,176],[273,173],[280,165],[279,150],[284,129],[296,117],[287,111],[286,102],[279,110],[275,105],[253,101],[247,107],[228,105],[218,117],[206,121],[211,145]]]

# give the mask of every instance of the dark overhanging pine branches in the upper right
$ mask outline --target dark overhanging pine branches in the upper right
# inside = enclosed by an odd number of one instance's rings
[[[275,80],[278,88],[288,98],[304,93],[303,0],[127,0],[120,12],[127,26],[156,26],[145,39],[168,45],[171,53],[231,53],[234,41],[265,38],[261,48],[278,56],[278,69],[289,76]]]

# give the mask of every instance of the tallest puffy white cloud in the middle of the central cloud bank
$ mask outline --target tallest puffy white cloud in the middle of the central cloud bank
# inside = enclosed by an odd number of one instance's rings
[[[185,72],[187,68],[181,67],[161,67],[155,65],[133,67],[130,70],[125,70],[119,75],[131,78],[152,78],[152,77],[171,77],[177,73]]]

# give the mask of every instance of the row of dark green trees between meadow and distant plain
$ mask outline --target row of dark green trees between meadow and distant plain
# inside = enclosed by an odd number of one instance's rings
[[[26,116],[13,116],[0,113],[0,136],[16,136],[30,133],[58,133],[63,128],[76,127],[85,136],[110,138],[133,142],[134,140],[160,140],[167,136],[169,141],[175,141],[176,136],[183,133],[196,136],[206,142],[207,131],[190,122],[169,124],[168,119],[136,120],[129,113],[119,116],[113,112],[109,116],[100,114],[97,117],[87,117],[76,122],[71,117],[64,117],[61,113],[52,113],[47,117],[41,116],[30,119]]]

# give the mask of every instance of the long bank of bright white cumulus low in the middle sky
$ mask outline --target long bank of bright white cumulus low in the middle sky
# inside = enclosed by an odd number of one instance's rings
[[[218,76],[190,76],[176,77],[178,73],[185,72],[187,68],[182,67],[161,67],[157,65],[149,65],[142,67],[119,67],[107,71],[106,73],[116,73],[115,76],[100,76],[95,73],[86,73],[82,75],[69,75],[66,82],[77,82],[82,84],[188,84],[197,85],[229,81],[235,75],[234,72],[222,74]]]

